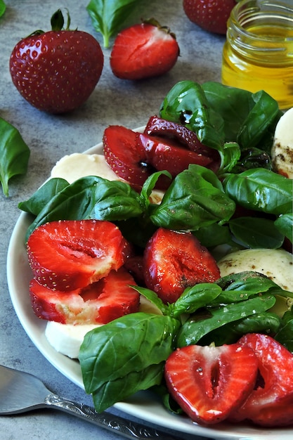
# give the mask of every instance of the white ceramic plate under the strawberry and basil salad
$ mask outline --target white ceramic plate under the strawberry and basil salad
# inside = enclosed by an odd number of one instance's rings
[[[86,153],[103,153],[100,143],[87,150]],[[30,225],[30,216],[24,212],[15,225],[8,247],[7,278],[11,300],[15,312],[32,339],[46,359],[79,387],[84,387],[79,363],[54,350],[45,337],[46,321],[37,318],[30,304],[29,283],[32,277],[25,251],[25,233]],[[135,394],[125,402],[117,403],[115,408],[141,418],[147,422],[174,429],[178,432],[206,436],[211,439],[242,439],[242,440],[291,440],[293,429],[261,429],[248,425],[228,425],[222,423],[213,427],[200,427],[190,419],[169,413],[159,399],[148,392]]]

